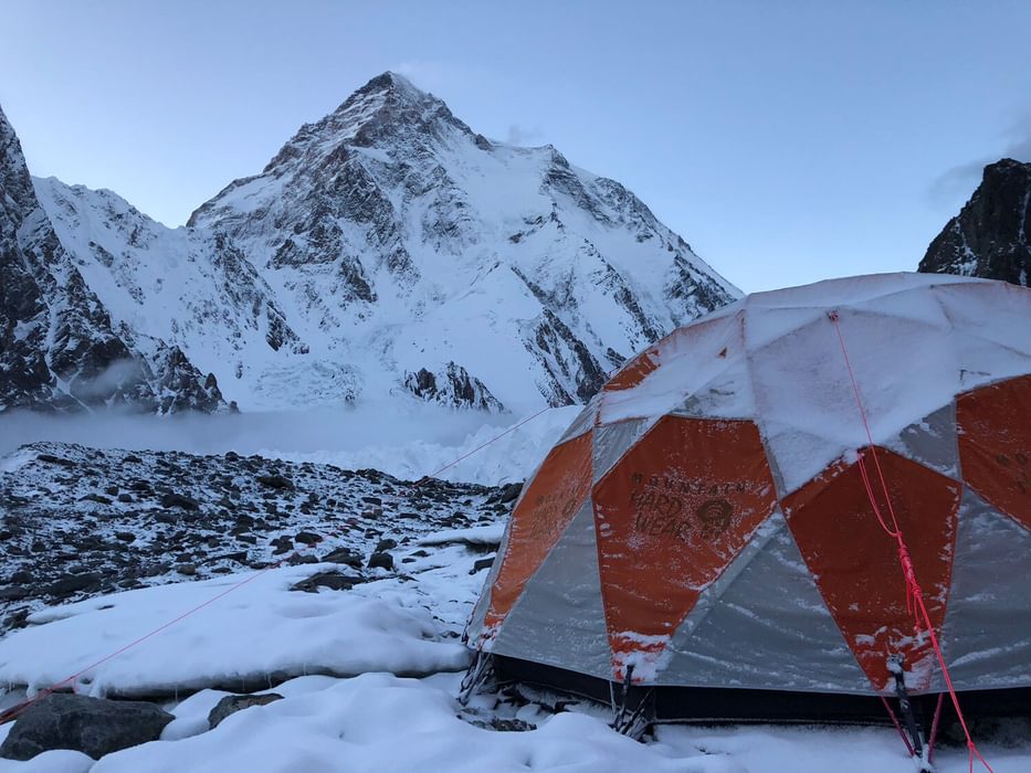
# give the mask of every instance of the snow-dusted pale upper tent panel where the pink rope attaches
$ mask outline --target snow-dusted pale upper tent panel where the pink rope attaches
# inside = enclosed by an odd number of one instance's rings
[[[875,444],[947,405],[959,391],[961,364],[939,328],[852,308],[838,314],[837,330],[823,314],[750,356],[757,421],[785,495],[869,443],[839,330]]]

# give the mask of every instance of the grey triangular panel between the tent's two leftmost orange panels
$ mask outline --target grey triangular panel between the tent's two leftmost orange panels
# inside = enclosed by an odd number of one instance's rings
[[[505,618],[491,652],[608,679],[595,513],[585,502]]]

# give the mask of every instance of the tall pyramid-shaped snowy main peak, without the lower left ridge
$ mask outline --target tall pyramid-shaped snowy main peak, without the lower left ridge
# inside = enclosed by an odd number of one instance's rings
[[[240,245],[311,359],[377,393],[455,363],[511,407],[582,401],[737,296],[618,182],[492,142],[392,73],[190,224]]]

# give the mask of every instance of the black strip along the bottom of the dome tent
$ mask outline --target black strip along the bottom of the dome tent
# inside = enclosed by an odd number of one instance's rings
[[[622,686],[576,671],[494,656],[494,670],[501,681],[517,681],[599,703],[611,705]],[[715,687],[631,687],[629,702],[635,705],[652,690],[654,721],[715,723],[818,723],[887,724],[891,718],[877,696],[832,692],[790,692]],[[964,716],[969,721],[1031,718],[1031,688],[966,690],[959,693]],[[913,696],[914,713],[930,720],[937,693]],[[894,703],[894,700],[892,701]],[[951,703],[945,698],[946,717]]]

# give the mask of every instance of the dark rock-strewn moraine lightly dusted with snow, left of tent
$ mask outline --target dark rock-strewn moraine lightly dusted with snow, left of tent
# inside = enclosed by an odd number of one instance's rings
[[[506,518],[519,489],[233,453],[39,443],[12,458],[0,473],[0,635],[49,604],[284,560],[338,568],[299,590],[403,572],[420,536]]]

